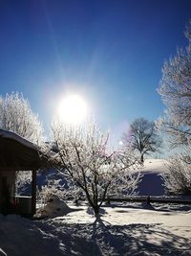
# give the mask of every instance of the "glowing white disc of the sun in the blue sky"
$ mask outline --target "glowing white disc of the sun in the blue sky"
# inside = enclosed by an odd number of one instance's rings
[[[58,105],[58,117],[67,124],[80,125],[87,116],[88,106],[79,95],[68,95]]]

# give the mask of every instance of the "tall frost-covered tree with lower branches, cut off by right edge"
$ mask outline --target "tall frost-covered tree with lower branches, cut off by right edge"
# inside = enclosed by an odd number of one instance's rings
[[[170,138],[170,146],[181,153],[169,158],[164,185],[173,194],[191,193],[191,21],[185,36],[188,46],[164,63],[159,94],[165,115],[158,127]]]

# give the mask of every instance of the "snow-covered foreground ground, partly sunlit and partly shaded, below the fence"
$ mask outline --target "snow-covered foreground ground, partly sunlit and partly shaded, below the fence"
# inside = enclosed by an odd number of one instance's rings
[[[100,220],[85,204],[69,206],[53,219],[0,216],[0,255],[191,255],[191,205],[113,204]]]

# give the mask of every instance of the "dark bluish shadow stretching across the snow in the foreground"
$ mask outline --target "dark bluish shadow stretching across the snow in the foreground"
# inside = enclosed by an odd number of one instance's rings
[[[191,256],[190,240],[162,228],[160,223],[112,225],[100,216],[93,223],[63,223],[59,219],[21,223],[18,230],[19,223],[12,222],[15,228],[11,228],[11,234],[5,224],[0,234],[0,248],[9,256]],[[15,246],[19,246],[17,253]]]

